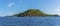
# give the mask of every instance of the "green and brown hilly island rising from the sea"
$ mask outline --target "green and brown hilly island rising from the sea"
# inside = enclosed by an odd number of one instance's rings
[[[45,16],[58,16],[58,15],[49,15],[49,14],[43,13],[42,11],[40,11],[38,9],[29,9],[29,10],[23,12],[23,13],[14,14],[13,16],[16,16],[16,17],[42,16],[42,17],[45,17]]]

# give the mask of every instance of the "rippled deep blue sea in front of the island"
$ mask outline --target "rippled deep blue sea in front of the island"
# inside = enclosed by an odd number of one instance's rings
[[[0,17],[0,26],[60,26],[60,17]]]

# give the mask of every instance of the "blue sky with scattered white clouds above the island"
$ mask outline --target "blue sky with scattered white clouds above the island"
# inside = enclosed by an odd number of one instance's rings
[[[60,0],[0,0],[0,16],[9,16],[28,9],[60,15]]]

